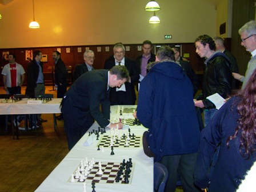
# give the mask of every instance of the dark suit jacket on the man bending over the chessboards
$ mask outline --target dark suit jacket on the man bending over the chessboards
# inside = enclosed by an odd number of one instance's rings
[[[76,124],[86,121],[86,115],[90,114],[101,127],[109,125],[110,87],[108,89],[107,82],[107,70],[93,70],[81,75],[67,90],[62,101],[62,113],[69,114],[72,110]],[[69,103],[71,109],[64,106],[66,103]]]

